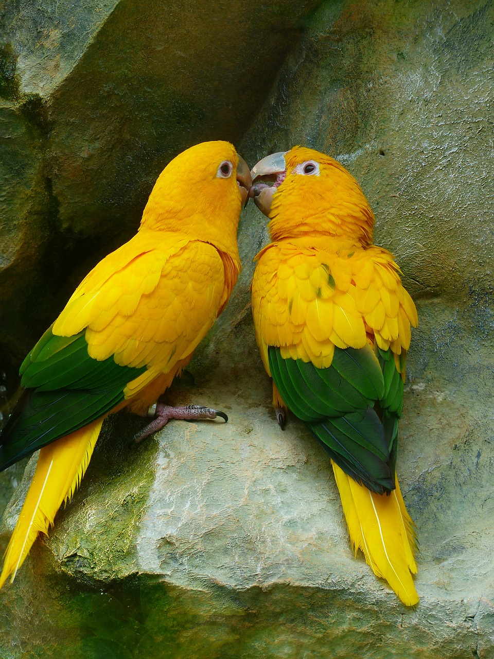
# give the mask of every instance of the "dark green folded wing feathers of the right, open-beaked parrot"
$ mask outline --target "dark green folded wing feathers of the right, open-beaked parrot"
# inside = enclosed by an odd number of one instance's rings
[[[329,368],[281,357],[268,349],[269,368],[287,407],[306,422],[348,475],[378,494],[395,488],[398,418],[403,381],[393,353],[370,345],[335,347]]]

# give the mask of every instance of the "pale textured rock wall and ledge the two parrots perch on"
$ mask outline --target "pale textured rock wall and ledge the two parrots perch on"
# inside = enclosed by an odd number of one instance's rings
[[[418,607],[352,556],[323,451],[275,424],[248,307],[266,239],[252,207],[197,384],[171,395],[229,424],[171,423],[134,449],[142,420],[107,424],[51,538],[0,594],[5,656],[493,656],[493,26],[491,3],[325,3],[239,148],[252,164],[296,143],[337,156],[416,300],[398,473]]]

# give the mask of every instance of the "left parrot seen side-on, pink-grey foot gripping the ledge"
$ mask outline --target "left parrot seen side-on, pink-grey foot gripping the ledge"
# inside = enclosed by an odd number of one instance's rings
[[[226,415],[155,405],[213,326],[240,272],[238,217],[249,169],[228,142],[204,142],[161,172],[138,233],[80,283],[20,367],[24,393],[0,434],[0,469],[41,449],[7,547],[0,587],[78,486],[103,419],[128,406],[157,418]]]

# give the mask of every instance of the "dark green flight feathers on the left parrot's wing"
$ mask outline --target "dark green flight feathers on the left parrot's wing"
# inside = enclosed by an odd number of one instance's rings
[[[26,391],[0,433],[0,471],[107,414],[144,370],[92,359],[84,331],[59,337],[47,329],[20,367]]]

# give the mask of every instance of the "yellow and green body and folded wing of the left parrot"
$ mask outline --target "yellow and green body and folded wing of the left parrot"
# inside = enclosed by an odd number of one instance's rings
[[[1,468],[175,374],[217,316],[224,272],[213,246],[179,236],[138,234],[103,259],[21,366],[27,391],[0,436]]]

